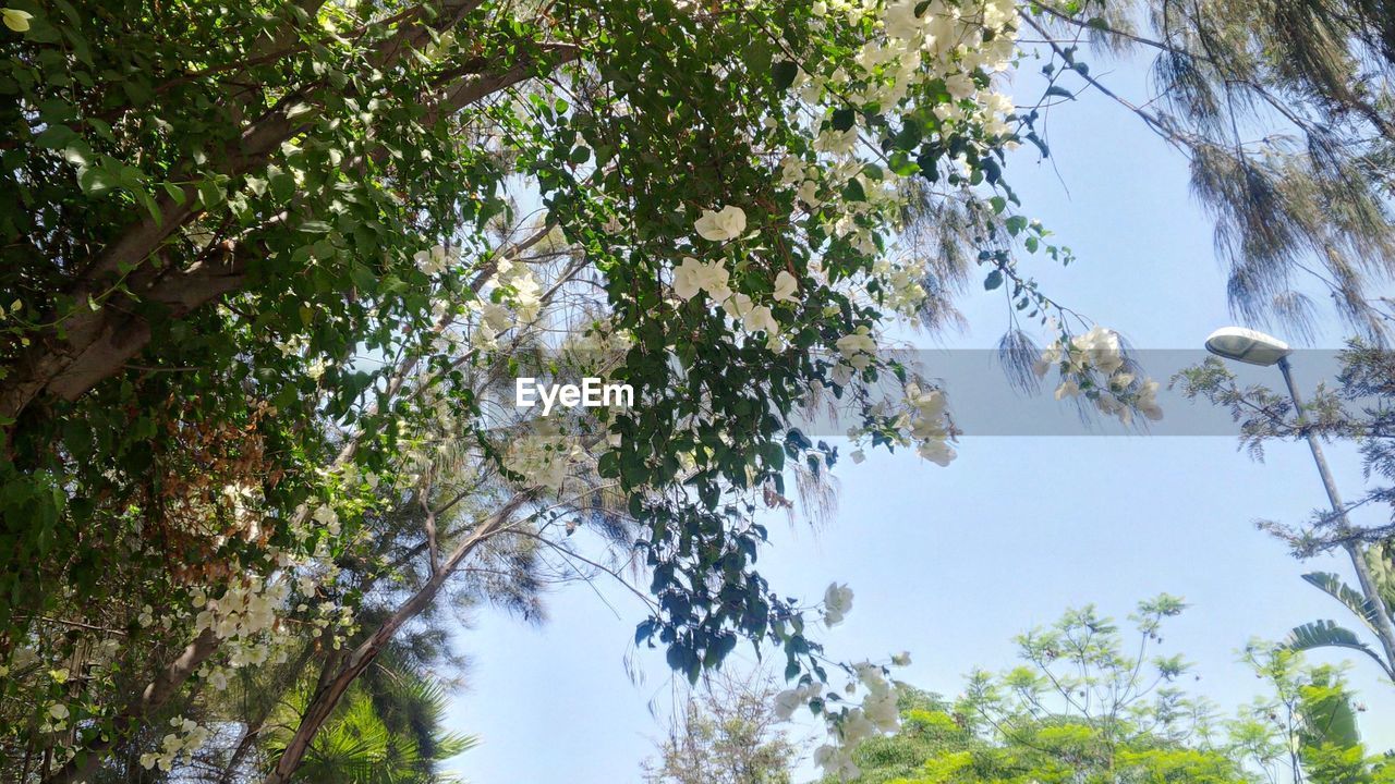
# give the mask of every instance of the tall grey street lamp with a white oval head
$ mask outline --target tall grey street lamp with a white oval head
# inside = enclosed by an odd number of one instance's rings
[[[1299,398],[1299,389],[1293,384],[1293,370],[1289,365],[1289,354],[1293,353],[1293,349],[1283,340],[1264,332],[1240,326],[1223,326],[1207,338],[1207,350],[1218,357],[1239,363],[1260,367],[1279,365],[1279,372],[1283,374],[1283,384],[1288,386],[1289,398],[1293,400],[1293,410],[1297,413],[1299,428],[1303,431],[1304,438],[1307,438],[1309,449],[1313,452],[1313,462],[1317,463],[1317,473],[1322,477],[1322,487],[1327,490],[1327,499],[1332,505],[1332,515],[1339,526],[1338,530],[1349,533],[1352,526],[1346,519],[1346,505],[1342,504],[1342,495],[1336,490],[1336,480],[1332,478],[1332,472],[1327,467],[1322,444],[1311,428],[1304,427],[1307,416],[1303,413],[1303,400]],[[1342,548],[1352,558],[1352,568],[1356,569],[1356,579],[1362,585],[1362,594],[1375,611],[1371,625],[1375,628],[1375,636],[1380,638],[1381,649],[1385,651],[1385,664],[1395,668],[1395,624],[1391,622],[1385,601],[1381,600],[1375,580],[1371,578],[1366,554],[1360,544],[1355,541],[1342,543]]]

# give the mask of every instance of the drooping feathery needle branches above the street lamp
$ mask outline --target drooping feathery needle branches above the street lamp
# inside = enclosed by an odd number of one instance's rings
[[[1050,95],[1096,89],[1189,158],[1237,315],[1311,336],[1304,283],[1317,285],[1356,335],[1388,340],[1395,310],[1375,293],[1395,272],[1387,4],[1046,0],[1023,20],[1046,39]],[[1087,45],[1151,54],[1148,93],[1092,73]]]

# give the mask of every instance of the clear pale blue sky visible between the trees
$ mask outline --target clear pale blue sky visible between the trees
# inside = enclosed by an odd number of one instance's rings
[[[1129,64],[1092,61],[1091,73],[1126,89],[1141,84]],[[1018,95],[1030,91],[1018,85]],[[1025,212],[1078,261],[1060,269],[1036,259],[1024,269],[1138,349],[1197,349],[1212,329],[1233,324],[1186,160],[1098,95],[1053,112],[1052,159],[1039,162],[1024,148],[1006,173]],[[970,328],[929,346],[993,347],[1006,326],[1002,292],[974,287],[961,308]],[[1315,347],[1339,343],[1329,325]],[[1268,381],[1278,385],[1272,372]],[[1302,363],[1295,372],[1302,388],[1318,381]],[[1355,497],[1359,462],[1350,449],[1328,452],[1338,484]],[[949,467],[869,451],[865,463],[843,460],[836,474],[829,525],[771,516],[762,572],[783,594],[810,603],[830,582],[848,583],[848,619],[820,633],[827,653],[864,660],[908,650],[912,665],[897,678],[925,689],[954,695],[970,670],[1011,665],[1013,636],[1069,607],[1092,603],[1123,619],[1138,600],[1166,591],[1190,608],[1165,628],[1163,650],[1186,654],[1197,691],[1230,713],[1258,693],[1237,661],[1250,638],[1281,639],[1306,621],[1342,619],[1343,610],[1300,575],[1349,575],[1349,565],[1295,561],[1254,529],[1261,519],[1300,522],[1325,504],[1302,444],[1276,444],[1256,463],[1229,435],[968,432]],[[448,724],[480,745],[453,767],[472,784],[642,781],[639,763],[664,732],[679,686],[661,651],[635,650],[640,603],[598,583],[555,590],[547,607],[541,625],[483,610],[458,631],[469,665]],[[734,665],[752,665],[749,646],[738,651]],[[1395,746],[1395,699],[1374,664],[1353,663],[1352,682],[1368,706],[1366,738],[1377,749]],[[808,728],[794,732],[809,737]],[[804,781],[812,778],[802,770]]]

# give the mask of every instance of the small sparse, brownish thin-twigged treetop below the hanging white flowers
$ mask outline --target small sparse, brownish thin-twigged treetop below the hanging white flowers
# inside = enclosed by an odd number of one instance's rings
[[[689,695],[657,759],[650,784],[790,784],[798,752],[778,728],[774,685],[762,677],[718,675]]]

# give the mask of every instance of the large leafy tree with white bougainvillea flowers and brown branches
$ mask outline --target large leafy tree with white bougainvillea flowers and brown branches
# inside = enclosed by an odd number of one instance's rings
[[[1031,137],[992,92],[1011,7],[834,11],[15,0],[4,776],[80,781],[314,628],[326,677],[266,777],[286,781],[476,558],[600,508],[651,576],[638,644],[691,679],[741,639],[824,678],[752,516],[787,465],[836,463],[791,427],[820,395],[859,441],[953,456],[943,395],[876,356],[933,289],[889,251],[910,197],[964,216],[967,258],[1042,318],[1016,254],[1062,252],[1003,180]],[[530,357],[575,374],[547,361],[562,335],[603,345],[636,405],[547,420],[490,396]],[[342,564],[405,499],[421,579],[360,628]],[[382,566],[368,582],[406,568]]]

